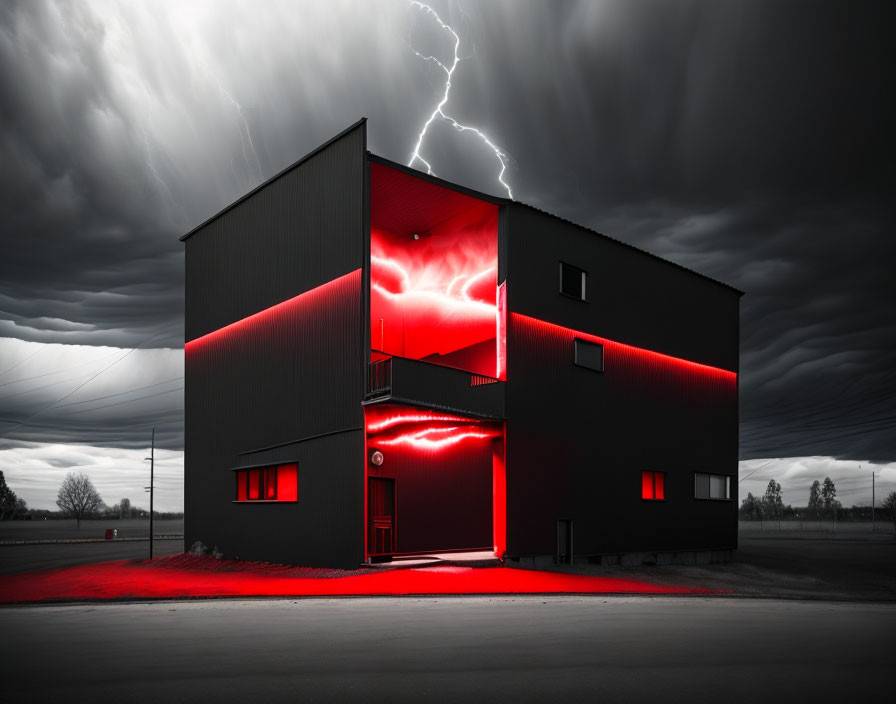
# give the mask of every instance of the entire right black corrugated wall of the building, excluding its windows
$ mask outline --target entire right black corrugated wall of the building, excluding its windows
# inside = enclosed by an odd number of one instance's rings
[[[508,554],[553,554],[558,519],[580,556],[736,547],[736,380],[623,348],[579,367],[572,330],[736,372],[738,293],[532,209],[506,216]],[[588,272],[587,303],[560,295],[559,261]],[[667,472],[664,502],[642,501],[642,470]],[[732,500],[695,499],[695,471],[733,476]]]

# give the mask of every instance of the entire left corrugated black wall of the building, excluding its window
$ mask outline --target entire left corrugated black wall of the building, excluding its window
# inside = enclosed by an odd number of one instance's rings
[[[360,124],[186,240],[187,547],[363,560],[365,149]],[[234,467],[280,461],[298,503],[232,503]]]

